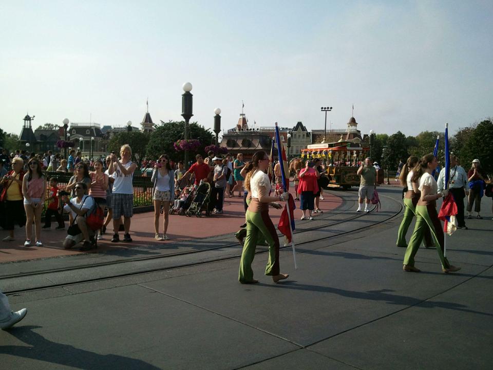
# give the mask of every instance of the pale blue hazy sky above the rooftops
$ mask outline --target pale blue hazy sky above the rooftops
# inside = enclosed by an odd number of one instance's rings
[[[194,117],[454,133],[493,116],[493,1],[0,0],[0,127]]]

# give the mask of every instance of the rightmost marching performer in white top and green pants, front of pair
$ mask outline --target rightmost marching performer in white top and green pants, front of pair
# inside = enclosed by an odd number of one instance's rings
[[[443,255],[444,234],[442,223],[438,218],[436,201],[442,196],[447,196],[448,190],[438,193],[437,181],[431,176],[431,173],[437,168],[437,165],[437,158],[432,154],[428,154],[421,158],[413,170],[414,174],[411,178],[411,182],[415,182],[419,179],[420,186],[418,189],[421,191],[421,195],[418,204],[416,205],[416,225],[404,256],[404,271],[420,271],[420,269],[414,267],[414,256],[420,248],[424,231],[427,228],[431,230],[435,247],[437,248],[440,261],[442,262],[442,271],[447,273],[459,271],[461,269],[460,267],[450,265],[447,258]]]

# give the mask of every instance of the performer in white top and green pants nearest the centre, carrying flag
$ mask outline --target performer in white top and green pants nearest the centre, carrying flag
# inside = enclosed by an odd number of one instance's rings
[[[262,233],[269,243],[269,262],[266,275],[272,276],[274,283],[287,279],[288,274],[279,272],[279,238],[269,217],[269,204],[278,200],[288,200],[288,193],[281,196],[269,196],[271,183],[265,173],[269,167],[269,157],[265,152],[256,152],[245,172],[245,187],[251,193],[252,200],[247,210],[247,237],[241,253],[238,280],[242,284],[255,284],[253,279],[252,262],[255,256],[258,233]]]

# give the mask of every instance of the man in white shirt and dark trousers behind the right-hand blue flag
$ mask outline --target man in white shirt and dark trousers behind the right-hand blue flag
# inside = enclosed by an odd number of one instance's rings
[[[438,175],[438,192],[445,189],[445,168]],[[457,157],[450,156],[450,174],[447,189],[453,195],[453,200],[457,205],[457,228],[467,230],[466,221],[464,220],[464,197],[467,195],[467,174],[466,171],[457,164]]]

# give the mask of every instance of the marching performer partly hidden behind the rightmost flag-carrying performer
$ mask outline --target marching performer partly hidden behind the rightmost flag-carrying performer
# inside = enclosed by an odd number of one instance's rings
[[[419,183],[411,182],[411,178],[414,174],[412,169],[419,160],[420,159],[416,156],[410,156],[407,159],[406,164],[404,164],[404,167],[402,168],[401,174],[399,176],[401,185],[404,187],[404,190],[407,189],[407,191],[404,193],[404,217],[402,219],[401,226],[399,227],[399,231],[397,232],[397,247],[407,248],[407,230],[409,229],[409,225],[411,225],[412,219],[416,215],[416,204],[418,204],[418,200],[420,199],[420,191],[418,189]],[[433,247],[431,233],[428,229],[425,230],[424,236],[425,247]]]

